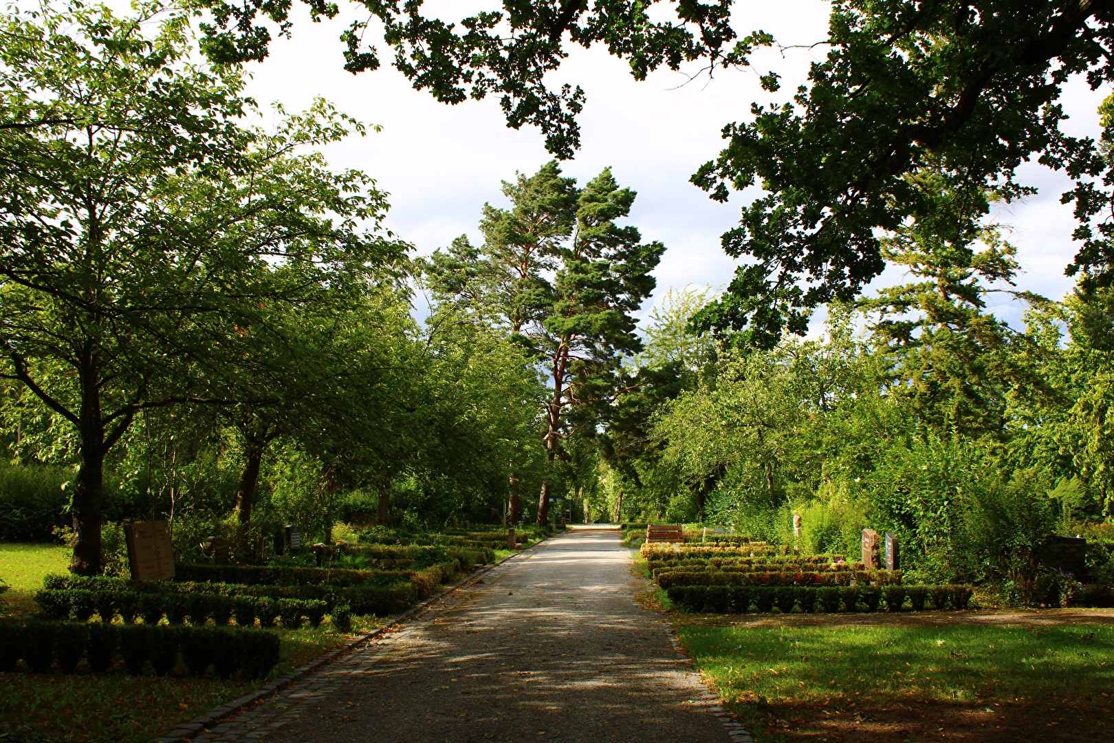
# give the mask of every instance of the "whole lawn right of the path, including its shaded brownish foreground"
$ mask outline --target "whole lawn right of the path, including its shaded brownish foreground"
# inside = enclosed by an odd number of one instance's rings
[[[1108,740],[1110,624],[684,622],[682,644],[760,741]],[[1063,727],[1062,727],[1063,725]]]

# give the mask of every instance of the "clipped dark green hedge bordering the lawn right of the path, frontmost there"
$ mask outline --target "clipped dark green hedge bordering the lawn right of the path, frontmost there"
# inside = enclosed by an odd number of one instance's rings
[[[924,610],[928,602],[937,609],[965,609],[970,586],[674,586],[670,600],[688,612],[765,614],[778,607],[810,613],[877,612],[883,606],[900,612],[907,605]]]

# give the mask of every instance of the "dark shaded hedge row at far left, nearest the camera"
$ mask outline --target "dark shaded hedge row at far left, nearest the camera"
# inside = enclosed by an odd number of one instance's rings
[[[134,676],[147,665],[159,676],[183,667],[192,676],[228,678],[240,673],[262,678],[278,663],[278,635],[263,629],[226,627],[154,627],[149,625],[0,622],[0,672],[22,661],[30,673],[57,663],[74,673],[85,658],[94,673],[105,673],[117,658]]]

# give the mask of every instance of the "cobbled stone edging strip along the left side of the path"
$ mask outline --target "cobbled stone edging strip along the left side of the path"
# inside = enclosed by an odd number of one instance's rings
[[[319,655],[316,658],[314,658],[310,663],[306,663],[303,666],[299,666],[297,668],[294,668],[293,671],[291,671],[286,675],[278,676],[274,681],[267,682],[263,686],[260,686],[258,688],[256,688],[256,690],[254,690],[252,692],[248,692],[247,694],[245,694],[244,696],[241,696],[240,698],[233,700],[232,702],[226,702],[225,704],[222,704],[218,707],[209,710],[205,714],[197,715],[196,717],[192,717],[190,720],[188,720],[188,721],[186,721],[184,723],[179,723],[179,724],[175,725],[174,729],[170,730],[168,733],[164,733],[162,735],[157,735],[154,739],[155,743],[179,743],[180,741],[193,740],[194,737],[196,737],[197,735],[199,735],[204,731],[218,725],[222,721],[224,721],[224,720],[226,720],[228,717],[233,717],[236,714],[238,714],[238,713],[243,712],[244,710],[246,710],[247,707],[250,707],[250,706],[252,706],[252,705],[254,705],[254,704],[256,704],[258,702],[262,702],[263,700],[265,700],[265,698],[267,698],[270,696],[273,696],[273,695],[277,694],[282,690],[291,686],[292,684],[294,684],[296,682],[302,681],[303,678],[305,678],[310,674],[319,671],[323,666],[325,666],[325,665],[328,665],[330,663],[333,663],[333,662],[340,659],[341,657],[348,655],[352,651],[354,651],[358,647],[360,647],[363,643],[367,643],[367,642],[369,642],[371,639],[374,639],[375,637],[379,637],[380,635],[382,635],[383,633],[385,633],[388,629],[394,628],[399,624],[404,623],[407,619],[411,618],[413,615],[423,612],[427,607],[429,607],[430,604],[433,604],[434,602],[437,602],[438,599],[442,598],[443,596],[447,596],[447,595],[451,594],[452,592],[455,592],[457,588],[460,588],[461,586],[463,586],[469,580],[475,580],[476,578],[478,578],[479,576],[483,575],[485,573],[487,573],[489,570],[494,570],[495,568],[499,567],[500,565],[505,565],[505,564],[509,563],[510,560],[515,559],[516,557],[525,555],[526,553],[530,551],[531,549],[534,549],[535,547],[537,547],[541,542],[544,542],[544,541],[546,541],[548,539],[551,539],[553,537],[557,536],[558,534],[563,534],[563,531],[555,531],[554,534],[547,535],[543,539],[538,539],[536,542],[534,542],[532,545],[530,545],[526,549],[517,551],[514,555],[508,555],[507,557],[505,557],[501,560],[498,560],[496,563],[492,563],[491,565],[485,565],[479,570],[476,570],[476,571],[471,573],[470,575],[465,576],[463,578],[461,578],[457,583],[452,584],[451,586],[448,586],[444,589],[442,589],[442,590],[433,594],[429,598],[427,598],[427,599],[424,599],[422,602],[419,602],[418,604],[414,604],[412,607],[410,607],[409,609],[407,609],[402,614],[399,614],[398,616],[395,616],[389,624],[385,624],[382,627],[379,627],[378,629],[372,629],[370,632],[367,632],[367,633],[360,635],[359,637],[356,637],[354,639],[350,639],[348,643],[344,643],[343,645],[334,647],[331,651],[326,651],[325,653]]]

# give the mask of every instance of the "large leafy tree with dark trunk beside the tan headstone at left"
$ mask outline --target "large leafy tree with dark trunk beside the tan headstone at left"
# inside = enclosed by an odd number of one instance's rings
[[[189,61],[185,13],[137,12],[0,20],[0,374],[77,431],[82,575],[100,569],[105,457],[136,412],[226,401],[206,391],[235,385],[228,352],[268,303],[359,282],[395,250],[360,226],[385,207],[367,176],[296,151],[360,125],[319,101],[274,134],[242,127],[242,72]]]

